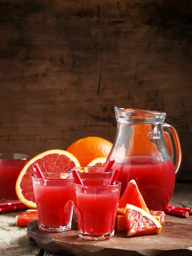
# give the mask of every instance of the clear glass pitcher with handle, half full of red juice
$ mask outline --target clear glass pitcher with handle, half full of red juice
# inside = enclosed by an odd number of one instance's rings
[[[108,160],[114,159],[113,169],[120,170],[121,195],[127,183],[134,179],[148,209],[163,211],[172,197],[175,174],[181,163],[177,132],[163,123],[166,113],[117,107],[114,111],[116,138]],[[171,141],[172,157],[164,131]]]

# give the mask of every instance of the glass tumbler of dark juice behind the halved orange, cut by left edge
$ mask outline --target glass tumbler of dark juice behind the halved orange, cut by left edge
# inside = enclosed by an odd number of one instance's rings
[[[27,154],[0,154],[0,200],[19,200],[15,192],[15,184],[21,170],[30,159]]]

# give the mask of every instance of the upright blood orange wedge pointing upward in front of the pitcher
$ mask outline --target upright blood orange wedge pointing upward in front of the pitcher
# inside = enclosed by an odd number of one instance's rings
[[[119,200],[119,208],[117,211],[119,214],[124,211],[126,204],[132,204],[145,210],[146,212],[149,212],[135,180],[131,180],[127,184],[127,187]]]

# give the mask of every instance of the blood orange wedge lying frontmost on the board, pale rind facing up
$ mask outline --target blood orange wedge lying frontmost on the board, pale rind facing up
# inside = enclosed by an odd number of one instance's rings
[[[131,204],[125,207],[127,236],[141,236],[160,233],[162,226],[156,218],[143,209]]]

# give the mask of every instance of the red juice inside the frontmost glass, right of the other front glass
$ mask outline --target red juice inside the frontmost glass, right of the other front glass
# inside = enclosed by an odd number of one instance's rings
[[[84,184],[87,185],[87,184]],[[92,183],[92,186],[96,186]],[[104,235],[114,229],[120,190],[106,192],[102,188],[95,193],[76,191],[75,205],[79,230],[90,235]]]

